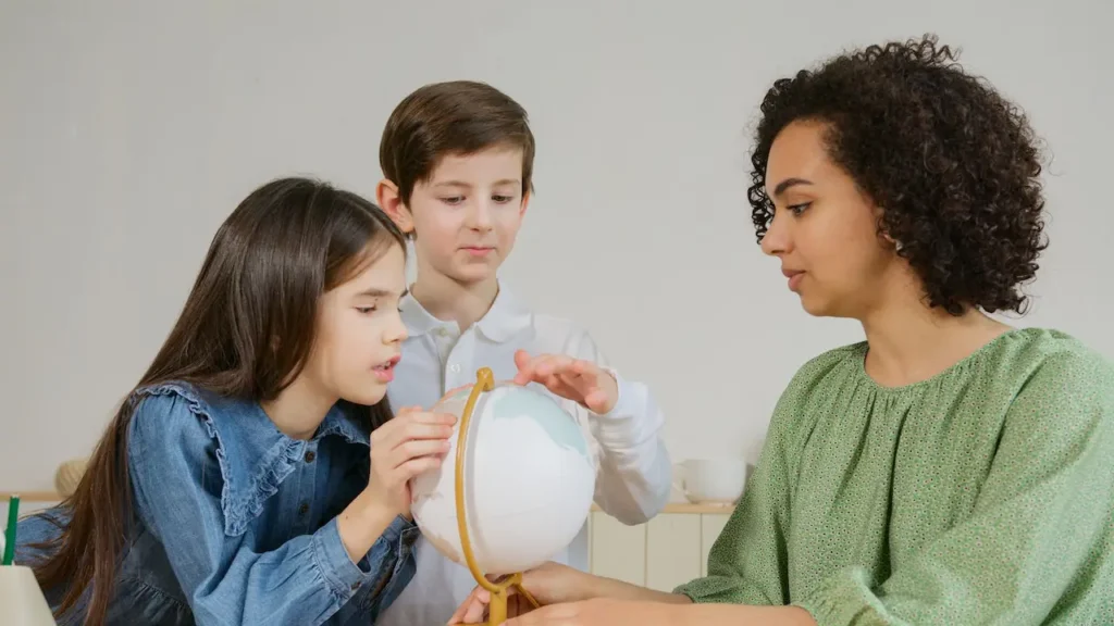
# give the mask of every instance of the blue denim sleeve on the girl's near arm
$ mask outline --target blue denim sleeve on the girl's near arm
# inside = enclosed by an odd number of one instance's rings
[[[128,469],[139,519],[166,550],[198,624],[322,624],[364,585],[381,588],[400,554],[395,519],[356,565],[336,519],[316,532],[256,551],[251,531],[224,531],[224,450],[176,394],[139,401]]]

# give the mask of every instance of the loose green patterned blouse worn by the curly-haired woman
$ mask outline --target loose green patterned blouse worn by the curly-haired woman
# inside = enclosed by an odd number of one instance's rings
[[[697,603],[821,626],[1114,624],[1114,368],[1014,330],[883,388],[866,343],[794,376]]]

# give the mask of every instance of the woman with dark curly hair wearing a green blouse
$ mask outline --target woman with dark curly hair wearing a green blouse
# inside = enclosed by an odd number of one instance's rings
[[[507,624],[1114,624],[1114,368],[987,315],[1045,246],[1018,108],[935,38],[873,46],[778,80],[752,163],[762,250],[866,341],[794,376],[706,577],[550,564]]]

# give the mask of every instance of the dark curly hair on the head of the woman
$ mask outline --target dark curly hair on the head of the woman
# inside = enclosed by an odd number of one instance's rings
[[[838,56],[776,80],[762,101],[747,189],[761,243],[773,204],[770,147],[795,120],[825,123],[832,160],[882,207],[880,234],[920,276],[929,306],[1024,313],[1044,197],[1025,115],[935,36]]]

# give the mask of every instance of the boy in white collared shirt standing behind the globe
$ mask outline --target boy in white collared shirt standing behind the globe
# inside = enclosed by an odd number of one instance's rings
[[[526,111],[478,82],[428,85],[383,130],[380,206],[412,238],[417,280],[401,303],[402,346],[392,407],[431,407],[491,368],[496,380],[544,385],[596,439],[596,503],[624,524],[657,515],[672,468],[663,415],[645,385],[607,369],[568,320],[531,312],[496,273],[529,203],[534,136]],[[418,571],[380,624],[444,624],[476,586],[468,568],[419,539]],[[588,568],[587,528],[555,560]]]

